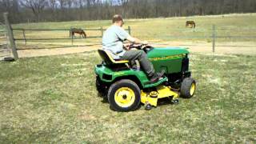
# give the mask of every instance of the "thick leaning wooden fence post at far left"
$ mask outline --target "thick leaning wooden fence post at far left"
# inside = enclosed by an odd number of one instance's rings
[[[8,13],[4,13],[3,17],[5,18],[5,22],[6,22],[6,30],[7,30],[7,33],[8,33],[9,40],[10,40],[10,47],[12,49],[14,59],[17,60],[18,59],[18,53],[17,53],[17,48],[16,48],[16,45],[15,45],[14,33],[13,33],[13,30],[10,26],[10,22],[9,22],[9,19],[8,19]]]

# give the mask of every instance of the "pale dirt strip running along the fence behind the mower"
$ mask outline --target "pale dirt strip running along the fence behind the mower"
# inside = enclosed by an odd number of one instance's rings
[[[186,47],[192,53],[212,54],[211,42],[152,42],[154,47]],[[75,54],[98,50],[102,46],[77,46],[55,49],[18,50],[20,58],[39,57],[58,54]],[[216,54],[249,54],[256,55],[256,42],[218,42],[215,47]]]

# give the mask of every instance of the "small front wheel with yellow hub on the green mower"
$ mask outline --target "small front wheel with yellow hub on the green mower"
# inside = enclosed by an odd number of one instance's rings
[[[181,86],[181,97],[192,98],[196,89],[196,82],[193,78],[184,78]]]

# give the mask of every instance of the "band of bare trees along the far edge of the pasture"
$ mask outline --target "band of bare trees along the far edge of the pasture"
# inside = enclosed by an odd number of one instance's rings
[[[256,12],[255,0],[0,0],[11,22],[156,18]],[[0,21],[2,18],[0,17]]]

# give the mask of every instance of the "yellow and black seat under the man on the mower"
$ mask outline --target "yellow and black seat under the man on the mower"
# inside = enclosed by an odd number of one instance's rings
[[[115,60],[112,58],[109,52],[106,50],[98,50],[98,54],[101,56],[104,62],[108,65],[113,65],[113,64],[120,64],[120,63],[128,63],[129,61],[127,60]]]

